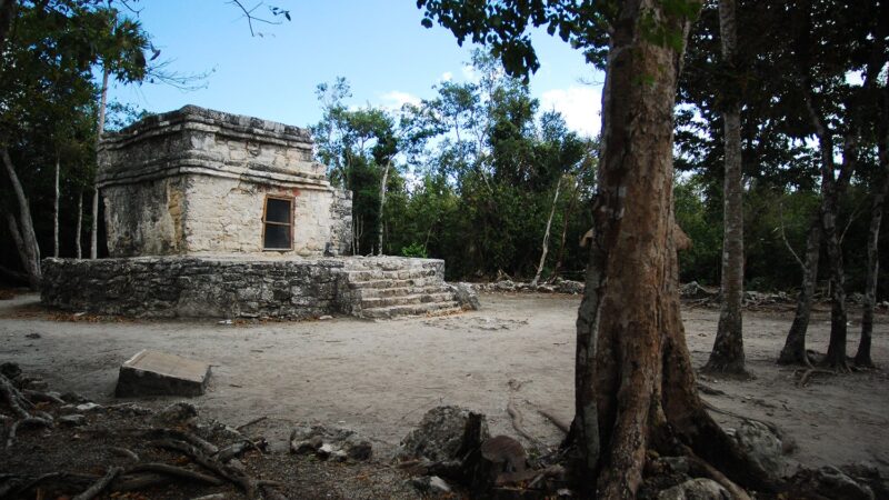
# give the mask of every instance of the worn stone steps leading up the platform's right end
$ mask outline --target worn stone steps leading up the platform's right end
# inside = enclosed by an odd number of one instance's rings
[[[344,270],[351,313],[360,318],[438,316],[459,312],[437,259],[366,258]]]

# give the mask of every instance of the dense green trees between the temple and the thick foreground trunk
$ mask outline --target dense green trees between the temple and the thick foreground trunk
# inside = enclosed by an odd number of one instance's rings
[[[354,193],[354,249],[377,253],[381,223],[383,253],[443,258],[450,278],[533,276],[561,183],[548,266],[561,257],[561,270],[577,278],[595,143],[569,131],[558,113],[539,113],[527,84],[493,58],[478,52],[473,64],[479,82],[440,82],[434,98],[394,114],[350,110],[343,79],[319,86],[318,157]],[[386,163],[392,169],[380,214]]]

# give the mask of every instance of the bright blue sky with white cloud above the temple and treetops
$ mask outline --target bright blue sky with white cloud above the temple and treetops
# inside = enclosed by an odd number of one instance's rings
[[[259,2],[246,0],[248,8]],[[137,3],[138,19],[151,33],[170,70],[213,70],[207,88],[183,92],[162,84],[113,84],[110,97],[152,112],[197,104],[299,127],[314,123],[320,109],[314,88],[346,77],[352,106],[392,109],[430,98],[444,78],[466,81],[471,46],[436,26],[426,29],[414,0],[272,0],[289,9],[292,21],[254,24],[224,0],[151,0]],[[260,6],[258,14],[268,12]],[[266,16],[270,18],[270,16]],[[579,51],[545,32],[535,33],[541,68],[531,91],[541,110],[561,111],[570,128],[592,134],[599,129],[601,81]]]

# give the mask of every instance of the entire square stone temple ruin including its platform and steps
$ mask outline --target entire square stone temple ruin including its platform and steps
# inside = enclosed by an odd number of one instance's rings
[[[348,257],[351,193],[307,130],[193,106],[99,146],[110,258],[46,259],[43,303],[138,317],[457,311],[437,259]]]

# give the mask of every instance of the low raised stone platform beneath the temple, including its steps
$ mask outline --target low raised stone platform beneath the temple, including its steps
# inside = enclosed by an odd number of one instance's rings
[[[41,301],[148,318],[392,318],[459,311],[444,261],[254,256],[44,259]]]

